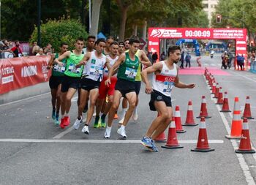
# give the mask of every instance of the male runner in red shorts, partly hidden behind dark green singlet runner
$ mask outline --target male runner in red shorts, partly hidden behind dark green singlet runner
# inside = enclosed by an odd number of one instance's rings
[[[110,67],[112,67],[113,64],[115,64],[115,62],[118,59],[118,42],[114,41],[110,44],[110,54],[107,55],[107,58],[110,61]],[[98,128],[100,126],[106,127],[105,126],[106,125],[105,117],[107,116],[108,111],[110,110],[110,107],[113,103],[113,94],[115,91],[117,78],[116,78],[116,75],[113,75],[110,78],[110,82],[111,82],[110,86],[105,85],[105,80],[107,80],[107,79],[108,79],[108,69],[105,68],[104,77],[99,86],[99,99],[97,99],[94,128]],[[102,116],[100,117],[100,121],[99,121],[99,112],[102,109],[102,105],[103,105],[107,95],[108,95],[108,103],[105,105],[104,112],[103,112]],[[100,124],[99,124],[99,122],[100,122]]]

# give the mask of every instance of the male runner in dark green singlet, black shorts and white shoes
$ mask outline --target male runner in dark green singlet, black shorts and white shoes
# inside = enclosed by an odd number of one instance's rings
[[[111,76],[113,75],[114,69],[119,67],[117,73],[117,82],[115,87],[115,93],[113,97],[113,105],[110,108],[108,114],[108,127],[105,130],[105,138],[110,137],[111,127],[115,112],[118,109],[119,102],[121,97],[126,97],[129,102],[129,109],[124,117],[124,122],[121,127],[118,129],[118,134],[122,138],[126,139],[127,135],[125,132],[125,127],[129,121],[129,118],[132,116],[132,111],[135,108],[136,103],[136,93],[135,93],[135,77],[137,75],[138,67],[140,64],[138,56],[135,56],[137,52],[140,41],[137,39],[130,39],[130,49],[129,52],[121,54],[113,67],[110,68],[108,73],[108,79],[105,81],[107,86],[111,84]]]

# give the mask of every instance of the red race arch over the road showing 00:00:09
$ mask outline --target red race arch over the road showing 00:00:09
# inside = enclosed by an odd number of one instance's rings
[[[159,56],[159,39],[235,39],[236,55],[246,53],[246,29],[148,28],[148,50]]]

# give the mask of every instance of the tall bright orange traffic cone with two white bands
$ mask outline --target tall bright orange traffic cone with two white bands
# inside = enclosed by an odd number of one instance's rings
[[[242,132],[242,122],[241,122],[241,110],[239,106],[239,99],[235,97],[235,105],[233,111],[233,120],[231,124],[230,135],[226,135],[227,139],[239,139]]]

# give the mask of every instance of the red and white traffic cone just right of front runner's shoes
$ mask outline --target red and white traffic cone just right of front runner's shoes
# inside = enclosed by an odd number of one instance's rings
[[[170,122],[170,127],[168,130],[168,138],[167,138],[167,143],[165,146],[161,146],[162,148],[168,148],[168,149],[173,149],[173,148],[183,148],[183,146],[180,146],[178,144],[178,138],[176,134],[176,126],[175,126],[175,119],[173,118],[172,121]]]

